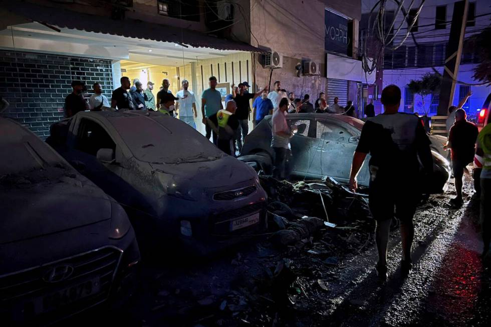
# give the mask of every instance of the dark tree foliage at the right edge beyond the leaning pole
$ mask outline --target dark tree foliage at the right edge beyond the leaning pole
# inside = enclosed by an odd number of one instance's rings
[[[479,82],[491,83],[491,27],[470,38],[470,49],[477,54],[479,64],[474,67],[473,78]]]

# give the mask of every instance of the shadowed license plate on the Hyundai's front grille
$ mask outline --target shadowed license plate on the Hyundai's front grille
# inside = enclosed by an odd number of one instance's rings
[[[50,312],[61,306],[65,306],[84,297],[98,293],[100,290],[101,283],[99,277],[86,280],[49,295],[36,298],[34,300],[34,310],[36,314]]]

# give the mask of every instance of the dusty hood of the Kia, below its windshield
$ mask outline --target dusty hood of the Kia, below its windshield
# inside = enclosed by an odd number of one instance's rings
[[[231,157],[213,157],[212,160],[185,162],[179,164],[151,164],[154,170],[172,175],[180,184],[196,188],[230,186],[254,180],[257,176],[249,165]]]

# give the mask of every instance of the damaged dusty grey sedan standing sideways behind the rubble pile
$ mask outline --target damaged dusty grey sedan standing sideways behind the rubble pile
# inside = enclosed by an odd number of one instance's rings
[[[340,183],[349,181],[353,153],[358,145],[364,122],[343,115],[289,114],[287,121],[298,132],[291,139],[290,172],[302,178],[330,176]],[[430,139],[432,136],[430,136]],[[438,144],[439,140],[432,143]],[[271,173],[275,153],[271,144],[271,116],[267,116],[246,137],[239,160],[256,170]],[[432,149],[434,173],[424,186],[425,193],[440,193],[446,189],[450,168],[446,159]],[[368,186],[370,172],[365,160],[358,174],[358,185]]]

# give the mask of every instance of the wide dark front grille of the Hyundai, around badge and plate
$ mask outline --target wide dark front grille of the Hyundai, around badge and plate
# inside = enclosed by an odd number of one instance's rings
[[[33,318],[37,321],[51,321],[54,317],[68,316],[104,301],[109,296],[121,255],[122,251],[117,248],[104,247],[0,276],[0,316],[7,318],[11,324],[25,324]],[[59,282],[45,281],[47,273],[60,265],[73,267],[70,276]],[[34,299],[94,278],[100,281],[98,292],[35,317]]]

